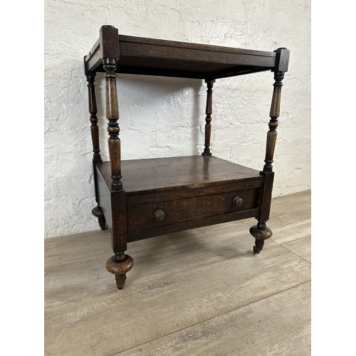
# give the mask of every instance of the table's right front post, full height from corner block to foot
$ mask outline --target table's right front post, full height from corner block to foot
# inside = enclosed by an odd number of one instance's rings
[[[273,84],[273,95],[269,114],[271,120],[268,122],[269,130],[267,132],[265,164],[263,166],[263,172],[261,172],[261,175],[264,177],[264,185],[261,189],[259,197],[261,210],[259,216],[256,218],[258,220],[258,224],[251,226],[250,229],[251,235],[256,239],[255,246],[253,246],[254,253],[260,253],[262,251],[264,241],[272,236],[272,231],[266,226],[266,221],[268,221],[271,211],[274,179],[272,163],[277,140],[278,117],[281,111],[282,80],[284,78],[284,73],[288,70],[289,61],[289,51],[286,48],[278,48],[275,52],[275,82]]]

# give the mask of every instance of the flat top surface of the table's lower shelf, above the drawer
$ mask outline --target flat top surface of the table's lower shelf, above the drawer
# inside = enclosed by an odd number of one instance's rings
[[[256,169],[217,157],[129,159],[121,161],[121,164],[121,181],[129,196],[262,179],[260,172]],[[99,163],[97,167],[110,187],[110,162]]]

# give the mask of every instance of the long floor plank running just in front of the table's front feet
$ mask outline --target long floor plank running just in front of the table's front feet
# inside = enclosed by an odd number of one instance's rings
[[[45,310],[46,355],[113,355],[310,281],[281,246]]]

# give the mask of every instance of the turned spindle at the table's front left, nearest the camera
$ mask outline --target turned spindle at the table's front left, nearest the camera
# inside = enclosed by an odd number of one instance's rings
[[[108,147],[111,165],[111,189],[122,190],[121,182],[121,143],[119,138],[120,127],[119,107],[117,105],[116,90],[116,61],[114,58],[104,58],[105,69],[105,94],[106,94],[106,118],[108,119]]]

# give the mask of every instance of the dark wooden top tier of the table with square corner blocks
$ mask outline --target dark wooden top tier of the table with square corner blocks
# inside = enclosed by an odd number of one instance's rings
[[[85,56],[85,73],[105,72],[103,58],[114,58],[116,73],[214,80],[272,70],[288,70],[289,51],[273,52],[211,46],[119,35],[102,26],[100,37]]]

